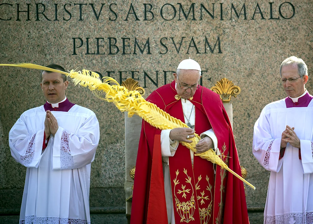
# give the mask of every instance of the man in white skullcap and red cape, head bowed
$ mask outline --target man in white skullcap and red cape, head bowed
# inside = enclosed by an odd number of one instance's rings
[[[131,224],[249,223],[243,183],[179,143],[190,143],[194,133],[199,134],[197,153],[213,148],[241,175],[232,128],[219,95],[198,84],[201,67],[192,59],[181,61],[173,76],[172,83],[146,100],[188,128],[161,131],[143,121]]]

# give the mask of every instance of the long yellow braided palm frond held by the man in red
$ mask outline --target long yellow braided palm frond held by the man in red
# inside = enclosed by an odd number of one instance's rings
[[[0,64],[0,66],[14,66],[14,67],[24,67],[24,68],[34,68],[51,72],[58,72],[69,76],[74,85],[80,84],[81,86],[89,88],[93,94],[101,100],[106,102],[112,102],[115,106],[122,112],[127,111],[128,117],[136,114],[140,116],[143,120],[148,122],[151,126],[158,129],[173,129],[186,127],[187,124],[183,123],[171,115],[164,112],[162,109],[158,108],[155,104],[147,102],[140,94],[139,91],[129,91],[126,87],[121,86],[115,79],[111,77],[103,77],[102,80],[99,75],[95,72],[83,69],[81,71],[71,70],[68,72],[62,72],[56,69],[38,66],[30,63],[23,64]],[[190,139],[192,143],[187,143],[185,141],[180,142],[182,145],[186,146],[193,152],[196,152],[196,144],[200,140],[200,136],[195,133],[195,137]],[[223,162],[223,160],[215,154],[213,149],[209,149],[207,152],[197,154],[203,159],[206,159],[220,167],[228,170],[230,173],[235,175],[237,178],[242,180],[244,183],[248,184],[251,188],[255,187],[248,181],[243,179],[233,170],[228,168],[228,166]]]

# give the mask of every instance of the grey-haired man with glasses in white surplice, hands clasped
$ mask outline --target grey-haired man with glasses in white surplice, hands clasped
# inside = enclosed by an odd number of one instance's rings
[[[265,224],[313,223],[313,100],[307,66],[289,57],[280,66],[285,99],[264,107],[254,125],[253,154],[271,171]]]

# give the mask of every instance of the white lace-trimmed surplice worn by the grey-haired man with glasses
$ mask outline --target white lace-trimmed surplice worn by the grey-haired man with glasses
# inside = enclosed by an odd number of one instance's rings
[[[280,157],[286,125],[295,128],[299,149],[287,143]],[[286,108],[285,99],[264,107],[254,125],[253,154],[271,171],[264,224],[313,223],[313,100],[307,107]]]

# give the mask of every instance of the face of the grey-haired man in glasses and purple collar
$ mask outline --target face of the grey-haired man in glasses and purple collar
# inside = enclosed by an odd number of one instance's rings
[[[298,66],[296,64],[285,65],[281,68],[281,79],[282,81],[286,79],[286,81],[282,83],[288,96],[295,98],[304,93],[304,85],[308,81],[308,76],[299,77]],[[294,81],[290,82],[288,79],[294,79]]]

